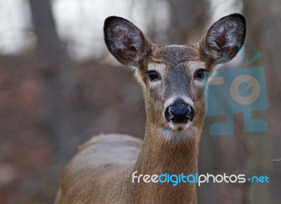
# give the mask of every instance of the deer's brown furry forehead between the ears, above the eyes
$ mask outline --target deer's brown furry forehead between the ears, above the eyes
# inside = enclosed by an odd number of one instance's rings
[[[198,50],[193,46],[155,46],[150,59],[152,62],[173,66],[182,62],[200,60],[200,55]]]

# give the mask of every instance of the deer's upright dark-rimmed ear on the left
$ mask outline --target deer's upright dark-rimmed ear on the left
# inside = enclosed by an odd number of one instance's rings
[[[110,16],[103,27],[105,43],[122,64],[138,66],[150,53],[150,42],[138,27],[124,18]]]

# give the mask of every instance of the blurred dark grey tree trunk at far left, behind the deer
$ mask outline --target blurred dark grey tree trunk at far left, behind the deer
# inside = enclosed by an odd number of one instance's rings
[[[45,81],[41,119],[45,121],[45,130],[51,131],[48,132],[51,144],[59,147],[77,130],[72,117],[75,90],[70,70],[73,64],[67,55],[65,44],[58,38],[51,1],[30,0],[30,8],[37,36],[36,69]]]

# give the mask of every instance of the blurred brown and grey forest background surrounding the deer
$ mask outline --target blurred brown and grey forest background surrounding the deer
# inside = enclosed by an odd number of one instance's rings
[[[220,118],[208,117],[199,172],[268,175],[270,184],[204,184],[199,203],[280,203],[280,11],[280,0],[1,0],[0,203],[53,203],[60,170],[92,135],[143,137],[141,88],[105,47],[107,16],[129,19],[155,43],[183,44],[235,12],[247,17],[243,63],[263,55],[251,66],[265,67],[269,109],[253,117],[268,132],[244,133],[235,114],[235,135],[210,136]]]

